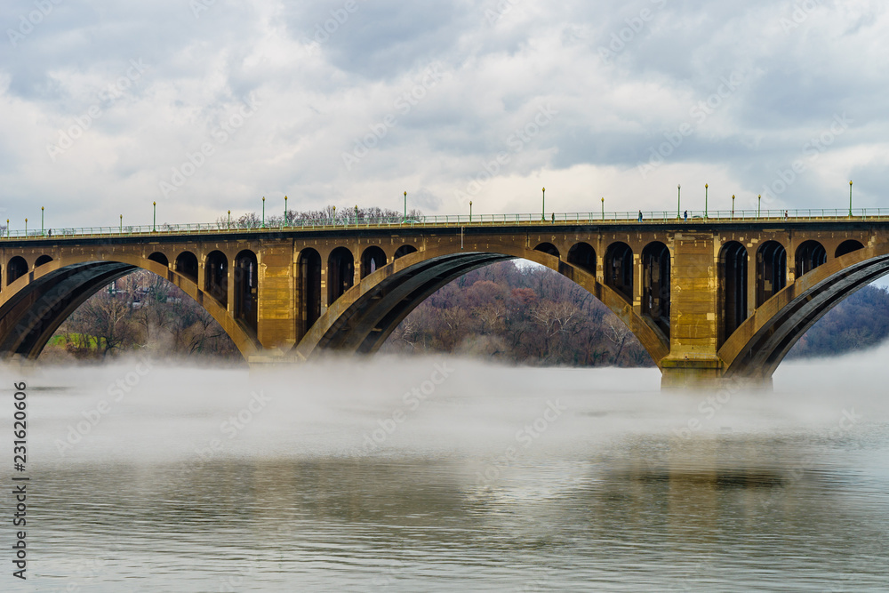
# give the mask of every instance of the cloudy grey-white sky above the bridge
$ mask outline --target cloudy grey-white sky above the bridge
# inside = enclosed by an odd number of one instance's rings
[[[877,0],[4,0],[0,218],[887,207]]]

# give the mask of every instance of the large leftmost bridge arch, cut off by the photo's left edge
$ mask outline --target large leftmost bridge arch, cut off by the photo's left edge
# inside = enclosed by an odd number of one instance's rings
[[[222,326],[244,358],[260,352],[255,337],[228,316],[213,299],[204,298],[195,280],[147,257],[127,253],[66,254],[10,283],[0,293],[0,357],[36,359],[62,322],[103,287],[136,269],[169,280]],[[32,277],[33,276],[33,279]]]

